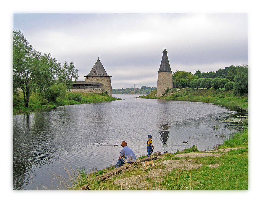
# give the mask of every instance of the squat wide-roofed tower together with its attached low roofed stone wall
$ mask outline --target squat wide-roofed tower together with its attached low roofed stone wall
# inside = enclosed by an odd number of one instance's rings
[[[106,73],[99,57],[90,73],[84,77],[85,81],[76,81],[73,84],[72,92],[104,93],[107,91],[109,96],[112,96],[112,76]]]

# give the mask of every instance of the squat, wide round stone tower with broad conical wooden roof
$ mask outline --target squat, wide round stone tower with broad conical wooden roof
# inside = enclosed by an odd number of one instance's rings
[[[90,73],[85,77],[85,82],[96,82],[101,83],[100,89],[104,92],[108,92],[109,96],[112,96],[112,83],[111,83],[111,77],[109,76],[99,57],[98,61],[94,64],[93,68],[91,69]]]

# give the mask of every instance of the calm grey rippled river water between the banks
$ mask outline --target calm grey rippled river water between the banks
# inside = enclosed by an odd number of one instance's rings
[[[152,135],[155,151],[175,153],[197,145],[213,149],[220,136],[241,131],[247,111],[202,102],[138,99],[57,107],[14,116],[14,189],[57,189],[67,169],[88,172],[116,164],[123,140],[137,157],[146,155]],[[219,131],[213,130],[218,125]],[[188,141],[184,144],[183,141]]]

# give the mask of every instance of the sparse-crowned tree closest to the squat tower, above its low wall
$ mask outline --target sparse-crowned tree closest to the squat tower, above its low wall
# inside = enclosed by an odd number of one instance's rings
[[[67,90],[70,91],[72,89],[73,83],[78,79],[78,70],[75,69],[74,63],[70,63],[70,65],[65,63],[62,67],[59,69],[58,73],[58,81],[62,84],[64,84],[67,88]]]

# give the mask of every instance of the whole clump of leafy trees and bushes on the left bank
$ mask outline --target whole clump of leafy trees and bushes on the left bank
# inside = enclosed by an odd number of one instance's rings
[[[22,31],[13,31],[13,86],[14,96],[22,89],[24,105],[28,107],[30,94],[38,93],[49,102],[65,94],[78,79],[73,62],[62,65],[51,54],[33,49]]]

